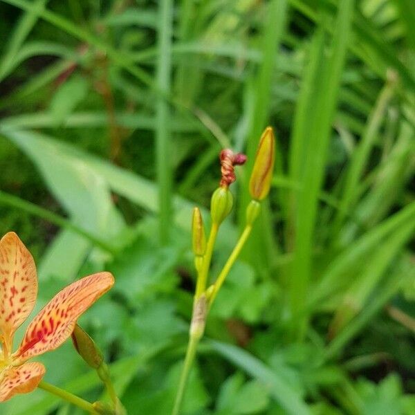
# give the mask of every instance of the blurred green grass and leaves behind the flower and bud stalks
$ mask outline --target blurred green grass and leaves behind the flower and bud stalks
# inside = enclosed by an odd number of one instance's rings
[[[243,226],[260,133],[273,189],[212,308],[183,414],[415,413],[412,0],[0,1],[0,234],[33,252],[40,308],[116,286],[80,320],[129,414],[172,409],[193,205],[246,151],[212,275]],[[411,246],[412,243],[412,246]],[[89,400],[66,342],[45,379]],[[74,415],[44,391],[2,415]]]

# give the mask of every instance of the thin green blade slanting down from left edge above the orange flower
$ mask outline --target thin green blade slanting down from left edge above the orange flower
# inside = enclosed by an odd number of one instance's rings
[[[71,221],[68,221],[67,219],[62,218],[62,216],[59,216],[44,208],[40,208],[39,206],[35,205],[35,203],[25,201],[24,199],[20,199],[19,197],[13,196],[12,194],[2,192],[1,190],[0,190],[0,203],[12,206],[13,208],[24,210],[25,212],[28,212],[29,214],[39,216],[39,218],[45,219],[46,221],[50,223],[54,223],[55,225],[60,226],[61,228],[73,230],[73,232],[80,234],[85,239],[88,239],[89,241],[94,243],[96,246],[99,246],[103,250],[110,252],[112,255],[116,255],[117,253],[116,250],[112,246],[110,246],[107,242],[104,242],[101,239],[98,239],[97,237],[93,236],[93,234],[86,232],[86,230],[80,228],[77,225],[74,225]]]

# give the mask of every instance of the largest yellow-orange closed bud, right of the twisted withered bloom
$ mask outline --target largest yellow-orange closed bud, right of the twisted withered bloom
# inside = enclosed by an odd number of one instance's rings
[[[261,201],[270,191],[275,160],[275,138],[273,129],[266,127],[259,141],[257,155],[249,182],[252,199]]]

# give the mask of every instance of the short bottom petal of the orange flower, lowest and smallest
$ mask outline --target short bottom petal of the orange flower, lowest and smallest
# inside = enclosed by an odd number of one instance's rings
[[[9,367],[0,375],[0,402],[17,394],[28,394],[35,390],[44,374],[45,367],[38,362]]]

